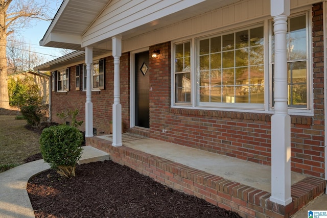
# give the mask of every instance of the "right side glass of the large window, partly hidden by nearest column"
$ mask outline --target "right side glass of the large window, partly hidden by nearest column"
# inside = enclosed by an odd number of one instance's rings
[[[274,51],[273,30],[271,32],[271,51]],[[290,108],[308,108],[308,32],[307,17],[305,14],[290,17],[288,19],[288,32],[286,35],[286,40],[288,106]],[[274,71],[273,54],[274,53],[272,53],[271,62],[272,75]]]

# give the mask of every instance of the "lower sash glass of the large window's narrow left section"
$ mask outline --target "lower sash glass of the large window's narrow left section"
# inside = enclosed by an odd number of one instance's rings
[[[190,72],[176,74],[176,102],[190,103],[191,102],[191,74]]]

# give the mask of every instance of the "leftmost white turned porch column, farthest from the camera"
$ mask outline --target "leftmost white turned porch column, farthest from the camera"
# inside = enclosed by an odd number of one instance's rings
[[[91,101],[92,61],[93,61],[93,48],[85,47],[85,63],[86,63],[85,137],[93,136],[93,103]]]

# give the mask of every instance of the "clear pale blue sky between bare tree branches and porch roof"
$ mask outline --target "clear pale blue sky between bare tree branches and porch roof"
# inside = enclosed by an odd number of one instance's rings
[[[62,0],[50,0],[50,7],[57,9],[60,7],[61,2]],[[56,12],[57,10],[53,10],[52,16],[54,16]],[[51,21],[34,19],[32,22],[30,22],[30,28],[20,29],[15,33],[17,38],[24,39],[24,41],[30,45],[32,52],[36,52],[46,57],[46,61],[51,61],[63,56],[63,53],[61,53],[59,49],[39,45],[39,41],[43,38],[46,30],[48,30],[50,23]]]

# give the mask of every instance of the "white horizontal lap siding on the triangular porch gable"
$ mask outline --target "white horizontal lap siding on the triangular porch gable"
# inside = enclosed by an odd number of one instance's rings
[[[110,38],[204,0],[114,0],[83,35],[83,46]]]

